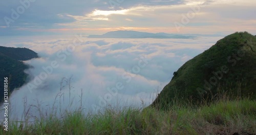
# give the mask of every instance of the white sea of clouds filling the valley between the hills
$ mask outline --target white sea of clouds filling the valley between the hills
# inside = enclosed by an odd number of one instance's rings
[[[149,105],[182,64],[222,37],[97,39],[77,34],[0,38],[0,46],[29,48],[40,57],[24,61],[31,66],[25,71],[28,83],[9,97],[9,118],[24,120],[51,112],[61,116],[65,110],[78,108],[95,112],[105,106]]]

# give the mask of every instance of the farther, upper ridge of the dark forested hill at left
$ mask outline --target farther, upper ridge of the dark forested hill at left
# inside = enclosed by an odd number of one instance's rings
[[[8,48],[0,46],[0,53],[16,60],[29,60],[38,57],[36,52],[27,48]]]

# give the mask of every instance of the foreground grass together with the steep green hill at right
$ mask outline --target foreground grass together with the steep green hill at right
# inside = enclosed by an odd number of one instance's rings
[[[247,32],[234,33],[186,62],[153,102],[155,107],[108,106],[88,113],[82,106],[70,111],[73,101],[66,111],[46,112],[40,104],[32,105],[39,117],[24,110],[25,120],[9,121],[8,131],[0,126],[0,134],[256,134],[253,41]],[[215,83],[210,81],[214,77]]]

